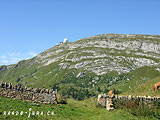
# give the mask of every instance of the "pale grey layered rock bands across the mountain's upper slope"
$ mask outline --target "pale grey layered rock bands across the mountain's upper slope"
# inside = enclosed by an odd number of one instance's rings
[[[66,54],[63,54],[66,52]],[[97,75],[130,72],[159,65],[160,36],[104,34],[59,45],[37,56],[42,66],[57,61],[62,69],[83,69]]]

